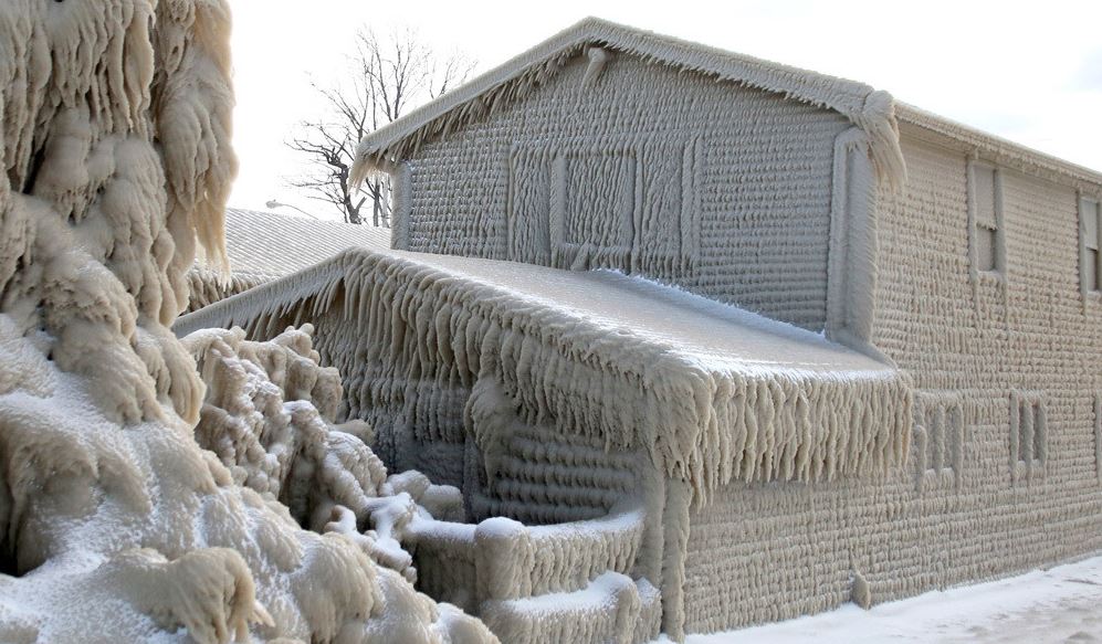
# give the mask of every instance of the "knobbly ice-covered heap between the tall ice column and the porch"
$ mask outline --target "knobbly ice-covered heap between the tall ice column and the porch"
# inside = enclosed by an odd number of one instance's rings
[[[414,581],[403,529],[414,518],[462,521],[462,495],[418,472],[388,476],[366,444],[367,423],[333,425],[340,376],[318,366],[312,331],[287,329],[266,342],[244,340],[241,329],[185,338],[208,384],[196,441],[234,484],[286,506],[301,526],[348,536]]]

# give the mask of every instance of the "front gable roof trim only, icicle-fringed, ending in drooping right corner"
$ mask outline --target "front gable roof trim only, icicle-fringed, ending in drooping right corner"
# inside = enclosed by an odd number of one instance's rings
[[[790,99],[838,112],[869,135],[873,162],[882,177],[895,181],[905,173],[895,129],[894,102],[886,92],[854,81],[772,63],[598,18],[586,18],[369,134],[357,149],[353,179],[360,181],[371,171],[388,169],[397,160],[416,152],[422,142],[447,136],[448,133],[527,95],[591,45],[783,94]]]

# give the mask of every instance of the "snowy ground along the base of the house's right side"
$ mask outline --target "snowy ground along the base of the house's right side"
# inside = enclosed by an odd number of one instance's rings
[[[1003,581],[837,611],[688,644],[1102,642],[1102,557]]]

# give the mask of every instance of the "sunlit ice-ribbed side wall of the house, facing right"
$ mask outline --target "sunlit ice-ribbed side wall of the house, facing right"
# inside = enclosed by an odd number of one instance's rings
[[[690,631],[861,594],[879,603],[1102,549],[1102,300],[1081,294],[1078,253],[1078,196],[1102,192],[1102,181],[1010,146],[976,155],[925,128],[903,134],[907,183],[880,196],[872,337],[917,388],[909,466],[874,485],[722,489],[690,517]],[[970,258],[974,155],[1001,166],[1001,277],[974,272]],[[1014,452],[1024,401],[1043,410],[1043,430],[1029,425],[1043,458],[1028,464]]]

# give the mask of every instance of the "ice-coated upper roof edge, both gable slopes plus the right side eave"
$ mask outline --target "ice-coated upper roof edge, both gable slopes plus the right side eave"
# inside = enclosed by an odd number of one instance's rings
[[[575,55],[590,45],[638,55],[678,68],[709,74],[747,87],[826,107],[842,114],[869,137],[872,160],[881,178],[899,184],[906,169],[899,147],[896,119],[920,138],[936,140],[972,155],[1096,192],[1102,172],[1039,152],[1032,148],[962,125],[911,105],[856,81],[837,78],[625,27],[586,18],[504,64],[473,78],[440,98],[371,133],[357,150],[355,180],[386,170],[416,154],[426,141],[484,118],[546,83]]]

